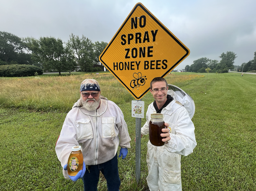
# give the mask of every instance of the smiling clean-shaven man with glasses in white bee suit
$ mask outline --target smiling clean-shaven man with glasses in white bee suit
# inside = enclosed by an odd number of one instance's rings
[[[163,146],[154,146],[148,141],[148,191],[181,191],[181,155],[187,156],[197,145],[195,127],[187,110],[167,95],[168,84],[164,78],[154,78],[150,92],[154,102],[148,106],[146,123],[141,128],[141,137],[149,133],[151,113],[162,113],[166,129],[162,129]]]

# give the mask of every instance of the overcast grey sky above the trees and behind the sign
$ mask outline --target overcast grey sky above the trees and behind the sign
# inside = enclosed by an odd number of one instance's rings
[[[175,69],[194,60],[236,53],[235,65],[256,52],[256,0],[0,0],[0,31],[18,37],[73,33],[109,43],[136,3],[142,3],[190,50]]]

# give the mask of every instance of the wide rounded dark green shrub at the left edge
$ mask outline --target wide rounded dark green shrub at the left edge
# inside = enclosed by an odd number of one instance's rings
[[[41,68],[33,65],[12,64],[0,66],[0,76],[3,77],[34,76],[35,72],[37,72],[38,75],[43,74],[43,70]]]

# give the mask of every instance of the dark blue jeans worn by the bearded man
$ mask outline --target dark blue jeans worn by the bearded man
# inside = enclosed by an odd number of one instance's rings
[[[97,191],[100,171],[107,180],[108,191],[119,191],[121,181],[118,174],[117,154],[107,162],[98,165],[88,165],[88,168],[89,170],[86,169],[82,178],[84,191]]]

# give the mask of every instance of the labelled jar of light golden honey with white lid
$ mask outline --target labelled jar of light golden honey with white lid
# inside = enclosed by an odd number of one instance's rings
[[[81,146],[74,146],[71,149],[72,152],[69,155],[69,160],[67,162],[67,173],[69,176],[75,176],[83,169],[84,158],[81,148]]]

